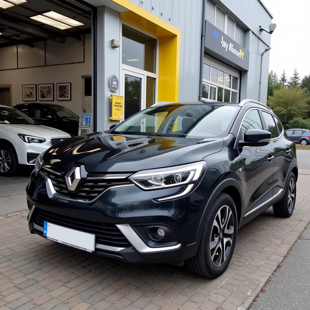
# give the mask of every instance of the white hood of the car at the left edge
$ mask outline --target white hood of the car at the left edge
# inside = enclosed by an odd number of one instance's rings
[[[15,125],[15,124],[2,124],[7,131],[16,132],[18,134],[33,135],[44,139],[50,139],[55,137],[70,137],[64,131],[59,129],[42,126],[42,125]]]

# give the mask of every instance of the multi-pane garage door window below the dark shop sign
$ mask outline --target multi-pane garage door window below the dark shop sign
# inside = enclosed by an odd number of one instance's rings
[[[203,64],[202,99],[237,102],[239,78],[215,66]]]

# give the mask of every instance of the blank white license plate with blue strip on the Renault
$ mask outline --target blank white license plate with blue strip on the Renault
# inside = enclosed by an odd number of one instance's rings
[[[43,235],[47,239],[72,246],[87,252],[95,251],[95,235],[88,232],[62,227],[44,221]]]

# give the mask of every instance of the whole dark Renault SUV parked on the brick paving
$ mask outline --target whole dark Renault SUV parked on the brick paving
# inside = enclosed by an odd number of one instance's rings
[[[296,147],[252,100],[159,103],[42,153],[27,187],[31,233],[128,263],[217,277],[237,229],[292,215]]]

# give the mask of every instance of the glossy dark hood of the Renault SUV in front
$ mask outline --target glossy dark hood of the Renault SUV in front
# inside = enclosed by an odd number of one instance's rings
[[[88,172],[135,172],[201,161],[222,150],[221,138],[146,135],[80,135],[49,148],[44,162],[67,168],[84,164]]]

